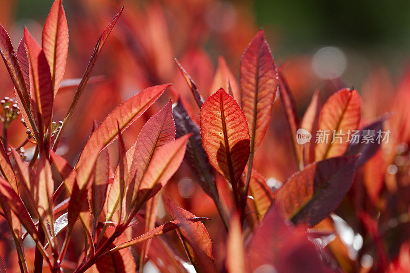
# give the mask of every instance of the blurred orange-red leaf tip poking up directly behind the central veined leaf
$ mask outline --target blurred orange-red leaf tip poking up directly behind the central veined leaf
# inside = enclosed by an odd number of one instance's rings
[[[218,57],[218,69],[215,72],[214,80],[212,82],[211,94],[214,90],[218,90],[219,88],[226,88],[229,92],[229,89],[231,88],[232,94],[230,95],[233,96],[236,101],[240,101],[238,82],[229,69],[227,61],[222,56]]]

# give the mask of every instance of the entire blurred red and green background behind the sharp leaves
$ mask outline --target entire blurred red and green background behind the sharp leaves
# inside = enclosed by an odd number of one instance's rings
[[[15,47],[22,38],[23,26],[41,41],[42,27],[52,2],[0,0],[0,23]],[[198,121],[198,108],[173,59],[178,58],[205,98],[226,86],[227,75],[234,79],[230,81],[232,88],[237,89],[241,54],[263,28],[276,65],[295,96],[299,118],[315,90],[321,90],[323,103],[343,87],[354,87],[361,95],[361,127],[386,112],[392,114],[388,121],[388,128],[393,132],[391,145],[383,147],[366,163],[364,175],[357,176],[358,182],[337,212],[352,226],[351,233],[354,230],[352,236],[347,236],[350,244],[335,241],[332,249],[335,253],[340,249],[340,253],[344,251],[335,256],[348,272],[360,268],[360,257],[366,254],[364,250],[375,261],[380,260],[374,254],[374,245],[353,246],[355,234],[359,235],[357,238],[362,234],[364,242],[367,240],[357,216],[359,210],[364,209],[380,217],[379,222],[384,226],[389,226],[383,234],[387,253],[391,259],[397,257],[401,243],[410,238],[410,218],[390,228],[392,219],[397,220],[409,211],[409,1],[64,0],[63,4],[70,37],[65,79],[83,75],[99,35],[121,4],[125,6],[93,72],[105,80],[87,86],[57,150],[72,165],[91,132],[93,119],[103,120],[119,103],[143,88],[174,83],[158,103],[127,129],[124,134],[127,148],[135,142],[142,124],[169,99],[175,102],[180,96],[192,118]],[[224,78],[218,78],[220,75]],[[64,118],[74,92],[75,87],[58,91],[54,101],[55,121]],[[4,96],[14,97],[14,93],[5,66],[0,64],[0,97]],[[22,124],[14,122],[8,130],[11,145],[17,146],[25,140],[26,129]],[[291,139],[277,98],[267,134],[254,161],[255,169],[271,187],[279,187],[297,171],[290,152]],[[28,146],[28,158],[30,149]],[[114,166],[116,145],[109,149]],[[178,171],[167,184],[163,198],[170,197],[195,215],[215,218],[212,200],[187,170],[182,167]],[[223,180],[218,182],[218,188],[222,195],[229,192]],[[229,197],[226,200],[229,207]],[[207,224],[213,242],[223,241],[220,224],[217,221]],[[349,251],[343,245],[349,246]],[[404,250],[410,249],[410,243],[406,247]],[[222,245],[215,244],[213,251],[215,256],[223,257]],[[223,259],[216,263],[223,266]],[[373,259],[366,268],[372,264]]]

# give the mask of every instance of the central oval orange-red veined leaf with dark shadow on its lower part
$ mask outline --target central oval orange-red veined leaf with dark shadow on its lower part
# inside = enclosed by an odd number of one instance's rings
[[[203,103],[200,117],[202,143],[209,161],[235,184],[250,153],[248,123],[238,102],[221,88]]]

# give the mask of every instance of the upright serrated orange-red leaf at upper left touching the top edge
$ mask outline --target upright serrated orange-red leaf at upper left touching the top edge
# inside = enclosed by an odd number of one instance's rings
[[[61,0],[55,0],[43,28],[42,48],[50,66],[54,95],[64,76],[68,54],[68,26]]]

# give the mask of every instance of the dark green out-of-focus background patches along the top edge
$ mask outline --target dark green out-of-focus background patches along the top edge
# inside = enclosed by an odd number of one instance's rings
[[[78,8],[75,6],[77,1],[66,2],[70,19]],[[122,4],[121,1],[111,2]],[[148,1],[134,2],[144,5]],[[42,23],[51,3],[50,0],[15,0],[12,14],[20,24],[31,19]],[[237,24],[236,20],[242,20],[238,16],[238,8],[249,8],[252,18],[246,19],[254,23],[255,27],[263,27],[267,31],[277,60],[287,59],[289,55],[295,54],[313,56],[325,46],[339,48],[341,52],[333,53],[342,53],[335,58],[345,59],[342,60],[343,63],[346,62],[342,74],[353,86],[361,84],[375,63],[384,64],[397,76],[408,61],[408,1],[220,1],[211,9],[220,9],[218,12],[228,16],[224,20],[229,22],[220,28],[220,22],[214,20],[210,24],[211,30],[213,26],[214,31],[223,32]],[[328,53],[331,57],[332,52]],[[215,60],[216,56],[213,57]]]

